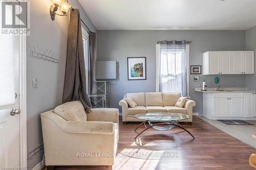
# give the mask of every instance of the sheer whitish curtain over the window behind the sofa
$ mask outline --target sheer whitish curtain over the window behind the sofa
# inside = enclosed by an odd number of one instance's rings
[[[160,43],[158,68],[160,92],[180,92],[183,96],[188,95],[187,60],[185,41]]]

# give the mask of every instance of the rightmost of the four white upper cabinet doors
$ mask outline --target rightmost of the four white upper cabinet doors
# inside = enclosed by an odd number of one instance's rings
[[[244,74],[254,74],[254,51],[244,52]]]

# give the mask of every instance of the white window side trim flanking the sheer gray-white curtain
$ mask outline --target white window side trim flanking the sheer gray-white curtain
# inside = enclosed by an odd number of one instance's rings
[[[159,81],[159,74],[160,74],[160,47],[161,44],[156,44],[156,92],[159,92],[159,86],[160,86],[160,81]],[[186,58],[187,58],[187,66],[186,66],[186,71],[187,71],[187,97],[190,98],[189,96],[189,44],[186,44]]]

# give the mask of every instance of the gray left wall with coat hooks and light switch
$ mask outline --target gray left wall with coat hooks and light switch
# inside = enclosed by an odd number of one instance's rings
[[[94,25],[76,0],[70,0],[79,8],[81,18],[91,31]],[[61,104],[66,69],[68,17],[56,16],[52,21],[49,14],[51,1],[33,0],[31,4],[31,35],[27,37],[27,147],[28,152],[42,144],[40,113]],[[30,57],[30,47],[42,46],[58,53],[59,64]],[[32,79],[37,79],[38,88],[32,88]],[[42,160],[42,153],[28,160],[32,169]]]

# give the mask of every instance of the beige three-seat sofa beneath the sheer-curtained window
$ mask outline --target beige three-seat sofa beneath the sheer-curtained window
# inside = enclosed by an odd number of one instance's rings
[[[180,98],[180,93],[161,93],[161,92],[141,92],[141,93],[127,93],[123,100],[119,102],[122,106],[122,120],[123,122],[141,122],[144,120],[135,118],[134,115],[138,113],[152,113],[152,112],[168,112],[168,113],[183,113],[190,116],[189,119],[182,120],[182,122],[192,123],[193,106],[196,102],[187,100],[183,108],[176,107],[175,104]],[[125,98],[132,98],[138,106],[131,108]]]

